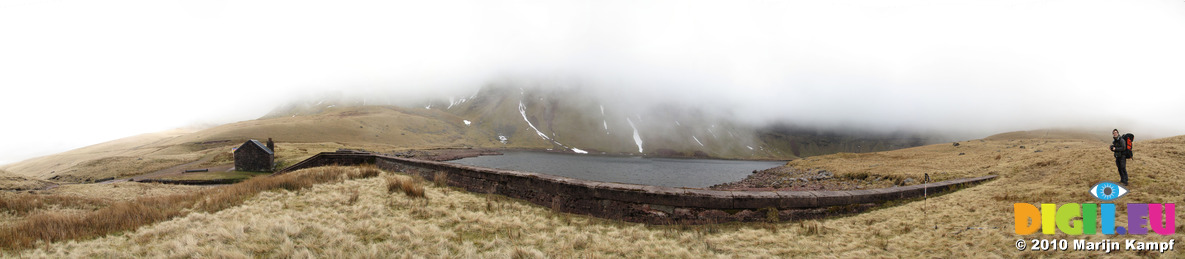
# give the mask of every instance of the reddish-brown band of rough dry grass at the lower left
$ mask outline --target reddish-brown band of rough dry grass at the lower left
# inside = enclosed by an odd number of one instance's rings
[[[377,175],[378,170],[374,168],[321,167],[271,177],[256,177],[200,192],[140,196],[124,201],[68,195],[4,194],[0,195],[0,212],[23,216],[6,220],[8,222],[0,225],[0,247],[27,248],[43,241],[100,237],[135,229],[191,212],[222,211],[238,206],[243,200],[264,190],[296,190],[315,183]],[[56,206],[84,211],[62,212],[53,209]]]

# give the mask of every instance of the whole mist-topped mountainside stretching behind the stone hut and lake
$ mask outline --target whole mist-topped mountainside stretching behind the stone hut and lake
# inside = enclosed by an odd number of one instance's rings
[[[360,104],[342,98],[297,102],[260,119],[197,131],[139,135],[2,169],[66,182],[127,177],[198,161],[203,162],[194,164],[197,168],[229,164],[230,150],[252,138],[276,141],[280,166],[338,148],[376,151],[511,148],[792,160],[931,142],[907,134],[749,125],[724,112],[673,104],[626,104],[597,99],[579,89],[492,85],[470,96],[412,108]]]

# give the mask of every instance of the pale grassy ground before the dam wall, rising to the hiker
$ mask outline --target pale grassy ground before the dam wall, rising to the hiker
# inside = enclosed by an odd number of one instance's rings
[[[959,142],[957,147],[942,143],[789,162],[792,167],[866,177],[1000,175],[950,194],[825,220],[647,226],[555,213],[527,202],[425,182],[418,184],[423,184],[427,199],[417,199],[391,192],[395,189],[385,177],[371,177],[315,184],[306,190],[264,192],[224,211],[192,213],[97,239],[53,242],[19,255],[1082,258],[1103,254],[1020,252],[1014,241],[1183,240],[1181,224],[1171,237],[1013,233],[1013,202],[1098,202],[1087,189],[1098,181],[1117,180],[1107,144],[1082,138],[997,136]],[[1136,157],[1128,166],[1132,193],[1115,202],[1185,200],[1180,192],[1185,186],[1185,175],[1180,174],[1185,170],[1185,136],[1135,144]],[[1125,206],[1119,208],[1123,215]],[[1126,219],[1120,218],[1119,225],[1126,225]],[[1180,215],[1177,222],[1181,222]],[[1177,252],[1116,251],[1107,257],[1172,258]]]

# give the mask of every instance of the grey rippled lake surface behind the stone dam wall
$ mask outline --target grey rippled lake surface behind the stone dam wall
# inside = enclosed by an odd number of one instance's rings
[[[532,151],[502,154],[448,162],[602,182],[693,188],[739,181],[754,170],[786,164],[779,161],[647,158]]]

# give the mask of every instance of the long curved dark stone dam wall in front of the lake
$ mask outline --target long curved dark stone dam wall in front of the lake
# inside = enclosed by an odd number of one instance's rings
[[[597,182],[546,174],[470,167],[373,153],[321,153],[276,174],[319,166],[374,164],[387,171],[444,177],[473,193],[521,199],[565,213],[649,224],[793,220],[860,212],[876,203],[922,198],[994,175],[863,190],[741,192]]]

